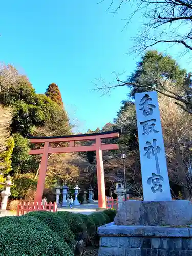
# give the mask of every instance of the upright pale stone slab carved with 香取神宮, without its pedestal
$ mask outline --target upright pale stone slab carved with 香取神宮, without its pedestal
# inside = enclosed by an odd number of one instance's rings
[[[135,94],[144,201],[171,200],[157,92]]]

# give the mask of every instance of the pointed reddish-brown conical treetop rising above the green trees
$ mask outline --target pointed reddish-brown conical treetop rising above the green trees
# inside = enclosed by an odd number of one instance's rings
[[[59,106],[64,108],[63,102],[62,102],[62,96],[61,96],[61,93],[60,93],[60,90],[59,90],[59,87],[57,86],[57,84],[55,84],[55,83],[49,84],[45,95],[47,97],[49,97],[51,100],[53,100],[54,102],[56,102]]]

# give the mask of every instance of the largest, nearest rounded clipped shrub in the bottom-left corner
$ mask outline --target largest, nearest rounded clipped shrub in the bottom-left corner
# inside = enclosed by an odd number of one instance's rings
[[[57,233],[39,223],[3,225],[0,233],[1,256],[73,256]]]

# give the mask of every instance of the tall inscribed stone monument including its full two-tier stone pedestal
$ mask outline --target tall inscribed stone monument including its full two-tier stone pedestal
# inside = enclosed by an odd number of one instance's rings
[[[135,94],[135,104],[144,201],[126,201],[98,228],[98,256],[189,256],[192,203],[171,198],[157,93]]]

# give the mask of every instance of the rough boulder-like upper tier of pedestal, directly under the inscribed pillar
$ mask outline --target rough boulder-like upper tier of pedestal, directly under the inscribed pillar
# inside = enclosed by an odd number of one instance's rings
[[[187,200],[126,201],[114,219],[116,225],[182,226],[192,224],[192,203]]]

